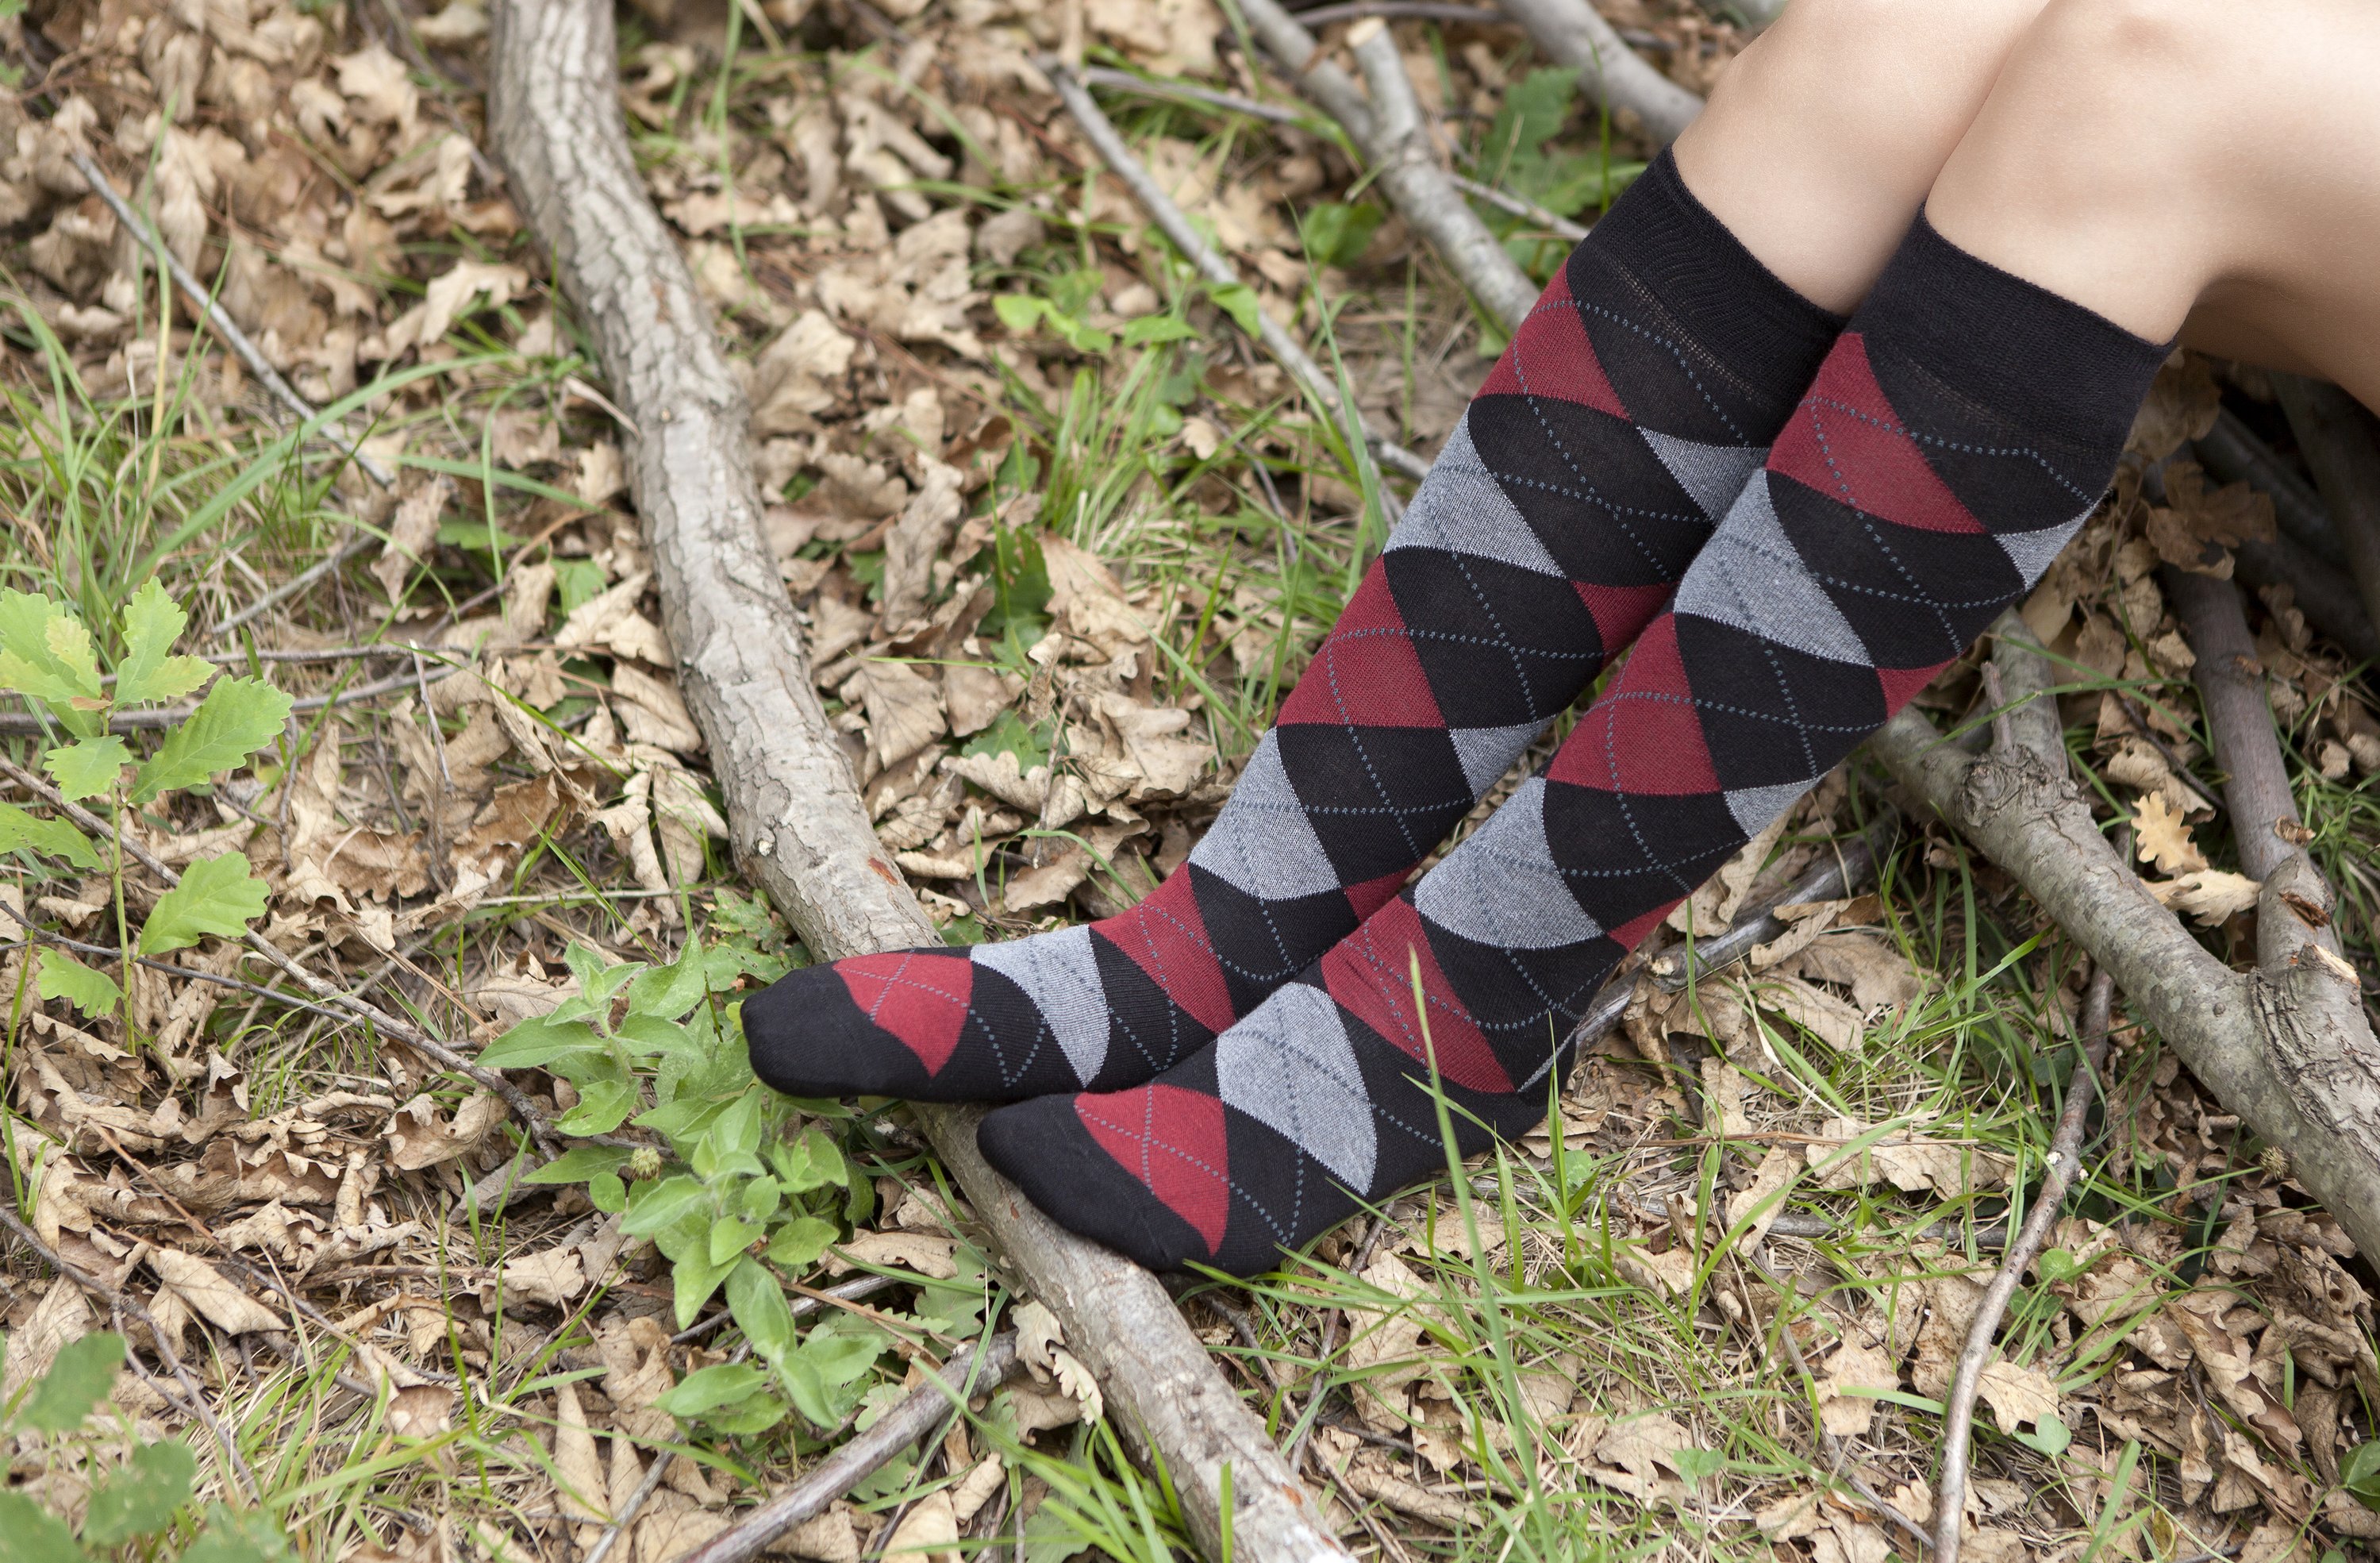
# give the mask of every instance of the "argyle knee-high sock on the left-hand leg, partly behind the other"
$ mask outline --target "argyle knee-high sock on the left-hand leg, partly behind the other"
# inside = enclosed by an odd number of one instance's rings
[[[1842,321],[1664,155],[1578,245],[1280,707],[1140,906],[862,956],[745,1004],[778,1090],[1012,1101],[1147,1080],[1380,906],[1668,597]]]

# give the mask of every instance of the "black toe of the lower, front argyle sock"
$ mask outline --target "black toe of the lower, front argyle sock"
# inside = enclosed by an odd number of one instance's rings
[[[1188,1220],[1090,1137],[1076,1097],[1035,1097],[988,1113],[976,1147],[1050,1220],[1107,1244],[1147,1270],[1214,1263]]]

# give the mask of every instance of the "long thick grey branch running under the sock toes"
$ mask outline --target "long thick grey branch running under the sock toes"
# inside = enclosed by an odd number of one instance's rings
[[[750,412],[619,109],[605,0],[495,5],[490,126],[528,226],[595,333],[631,438],[678,685],[709,740],[735,859],[821,959],[935,944],[885,861],[826,726],[793,604],[762,545]],[[976,1151],[976,1111],[914,1109],[1021,1285],[1097,1375],[1119,1430],[1164,1463],[1190,1532],[1252,1563],[1347,1558],[1264,1425],[1152,1275],[1035,1211]]]

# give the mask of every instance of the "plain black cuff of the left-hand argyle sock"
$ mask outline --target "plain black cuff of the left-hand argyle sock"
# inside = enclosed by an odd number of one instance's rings
[[[1787,288],[1685,188],[1668,147],[1611,202],[1585,243],[1635,274],[1695,340],[1714,350],[1816,366],[1842,333],[1844,316]]]

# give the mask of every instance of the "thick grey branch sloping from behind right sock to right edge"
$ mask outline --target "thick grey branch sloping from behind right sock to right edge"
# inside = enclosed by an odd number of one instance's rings
[[[2263,883],[2261,968],[2235,973],[2142,887],[2063,764],[2030,749],[1971,757],[1916,707],[1868,747],[2092,954],[2359,1247],[2380,1251],[2380,1042],[2354,971],[2313,940],[2330,899],[2304,854]]]

